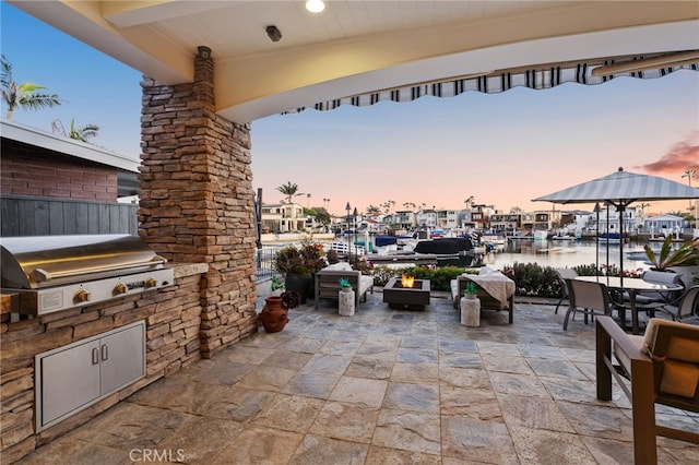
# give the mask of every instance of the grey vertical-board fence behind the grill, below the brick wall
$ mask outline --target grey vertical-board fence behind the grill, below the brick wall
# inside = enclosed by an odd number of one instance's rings
[[[0,236],[139,234],[138,205],[2,195]]]

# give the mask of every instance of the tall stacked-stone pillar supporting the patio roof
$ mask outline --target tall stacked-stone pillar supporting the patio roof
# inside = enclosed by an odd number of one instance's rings
[[[193,83],[141,83],[139,220],[166,259],[209,264],[200,338],[211,358],[257,331],[250,124],[216,115],[208,47],[194,67]]]

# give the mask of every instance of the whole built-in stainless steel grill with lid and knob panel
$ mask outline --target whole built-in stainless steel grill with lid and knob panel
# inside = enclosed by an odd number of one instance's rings
[[[3,294],[20,295],[20,313],[45,314],[157,289],[174,282],[167,262],[129,235],[0,239]]]

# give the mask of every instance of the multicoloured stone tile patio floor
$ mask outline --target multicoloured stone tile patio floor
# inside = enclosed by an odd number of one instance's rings
[[[424,311],[390,310],[380,289],[353,317],[321,303],[21,463],[632,463],[629,403],[616,386],[615,402],[595,400],[593,324],[578,318],[564,332],[564,312],[520,299],[513,325],[484,310],[465,327],[443,293]],[[659,417],[699,431],[697,415]],[[659,438],[659,463],[699,463],[699,448]]]

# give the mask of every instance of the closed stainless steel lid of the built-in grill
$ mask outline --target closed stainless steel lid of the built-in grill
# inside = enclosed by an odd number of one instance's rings
[[[36,289],[162,269],[167,262],[130,235],[4,237],[3,288]]]

